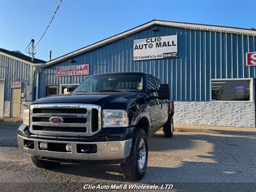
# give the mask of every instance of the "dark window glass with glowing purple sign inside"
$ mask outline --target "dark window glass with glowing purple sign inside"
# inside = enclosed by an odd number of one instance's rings
[[[252,100],[251,80],[212,81],[212,100]]]

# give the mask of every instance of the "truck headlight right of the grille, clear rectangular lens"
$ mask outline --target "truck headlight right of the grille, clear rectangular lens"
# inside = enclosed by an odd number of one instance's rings
[[[124,110],[103,110],[103,127],[128,127],[128,116]]]

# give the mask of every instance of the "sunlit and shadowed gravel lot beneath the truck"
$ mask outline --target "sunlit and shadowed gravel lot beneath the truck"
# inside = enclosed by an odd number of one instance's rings
[[[1,191],[84,191],[85,184],[173,184],[177,191],[255,191],[256,136],[161,132],[149,141],[148,170],[139,182],[123,179],[119,165],[61,164],[36,168],[17,148],[19,124],[0,123]],[[124,191],[124,190],[123,190]]]

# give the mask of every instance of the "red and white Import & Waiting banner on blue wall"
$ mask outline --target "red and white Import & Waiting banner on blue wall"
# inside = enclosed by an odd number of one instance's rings
[[[89,65],[72,65],[56,68],[56,76],[81,76],[89,74]]]

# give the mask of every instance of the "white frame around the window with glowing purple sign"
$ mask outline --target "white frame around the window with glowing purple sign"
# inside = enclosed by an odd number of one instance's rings
[[[212,100],[212,81],[250,81],[250,100]],[[211,79],[210,81],[210,102],[255,102],[255,80],[254,78],[237,78],[237,79]]]

